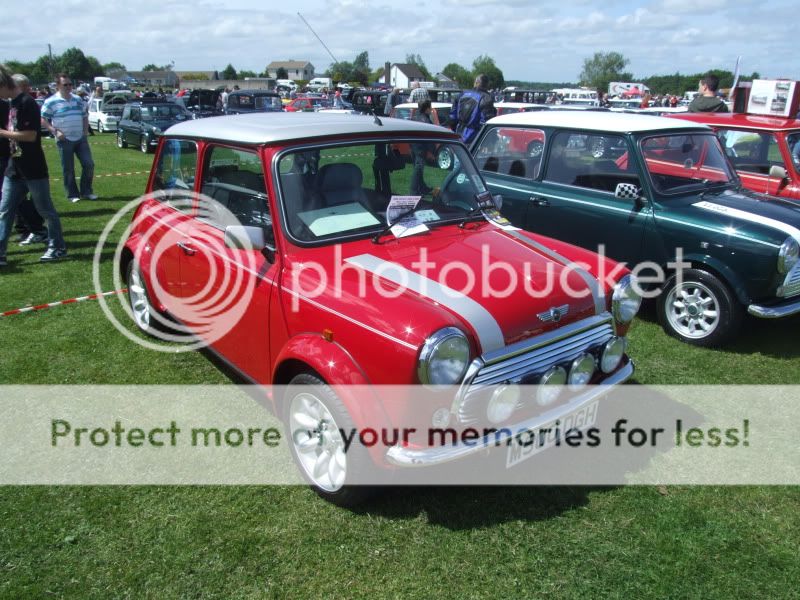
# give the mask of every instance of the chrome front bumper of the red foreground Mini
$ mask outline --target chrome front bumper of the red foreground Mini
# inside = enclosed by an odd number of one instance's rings
[[[615,385],[619,385],[627,381],[633,375],[634,366],[633,361],[628,359],[628,362],[620,368],[619,371],[610,375],[603,381],[602,384],[592,386],[588,391],[583,394],[575,396],[567,404],[561,404],[555,408],[536,415],[535,417],[515,423],[512,426],[500,427],[497,433],[486,435],[483,438],[470,441],[468,444],[457,443],[447,446],[439,446],[436,448],[413,449],[404,446],[392,446],[386,452],[386,461],[390,465],[396,467],[430,467],[434,465],[441,465],[453,460],[459,460],[470,456],[472,454],[480,453],[485,450],[491,450],[498,446],[504,446],[509,442],[517,433],[529,429],[537,429],[552,423],[556,419],[560,419],[572,412],[581,409],[583,406],[591,403],[600,396],[609,393]],[[504,433],[502,429],[508,430]]]

